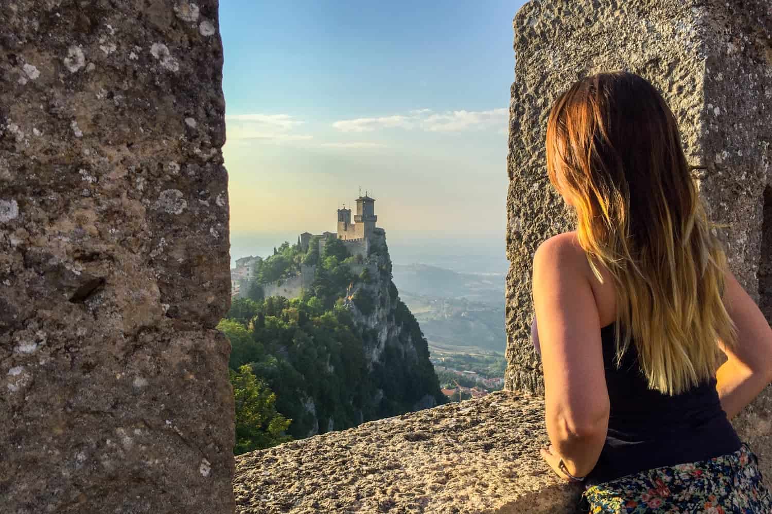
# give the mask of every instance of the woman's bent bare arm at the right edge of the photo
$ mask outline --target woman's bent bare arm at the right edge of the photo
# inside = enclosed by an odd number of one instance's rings
[[[716,389],[727,418],[733,418],[772,381],[772,329],[757,304],[725,275],[724,307],[737,327],[736,348],[726,348],[726,362],[716,371]]]

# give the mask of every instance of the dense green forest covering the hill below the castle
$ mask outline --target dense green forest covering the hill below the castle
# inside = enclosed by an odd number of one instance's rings
[[[302,264],[315,267],[308,291],[263,297],[263,284]],[[370,266],[354,274],[350,264]],[[396,337],[373,359],[385,328],[363,320],[378,309]],[[282,244],[258,261],[249,297],[233,301],[218,328],[232,345],[237,454],[415,410],[426,395],[445,401],[418,321],[391,281],[385,241],[364,258],[337,238],[321,250],[317,240],[307,251]]]

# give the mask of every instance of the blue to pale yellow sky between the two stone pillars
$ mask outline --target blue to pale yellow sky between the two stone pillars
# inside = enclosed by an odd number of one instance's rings
[[[522,4],[220,2],[232,257],[334,231],[360,187],[390,244],[503,245]]]

